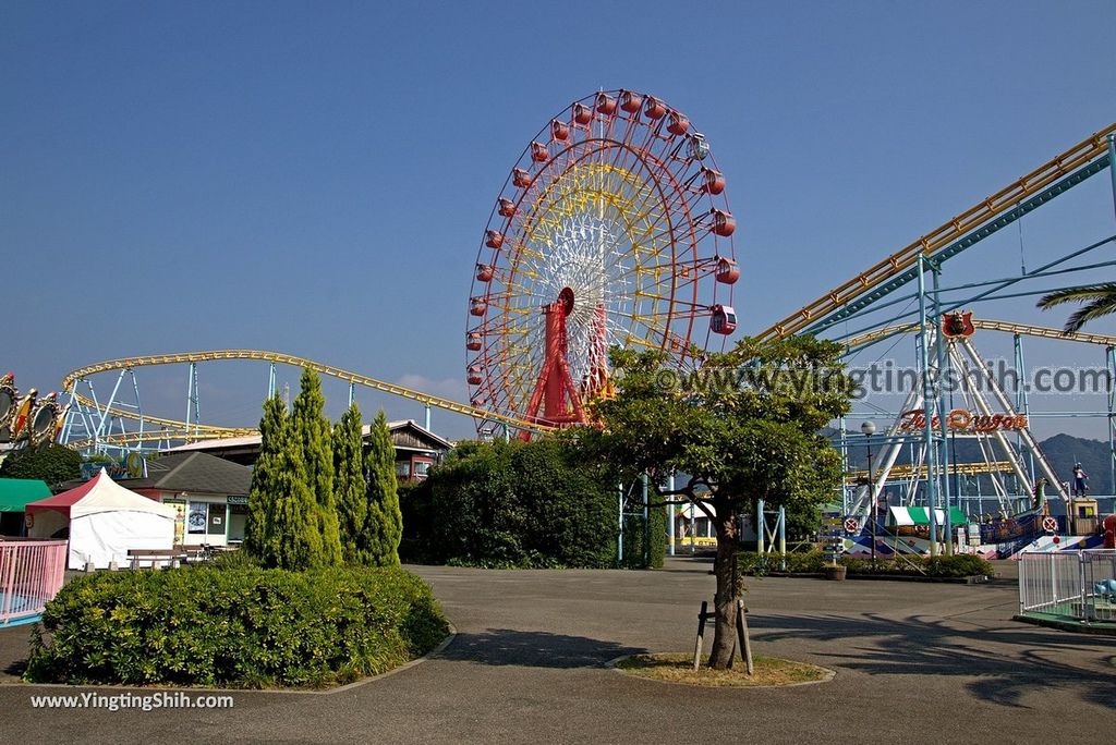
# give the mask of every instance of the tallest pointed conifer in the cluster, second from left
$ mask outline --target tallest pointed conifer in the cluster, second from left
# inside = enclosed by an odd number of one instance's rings
[[[341,563],[341,543],[334,504],[334,454],[330,447],[329,419],[323,413],[326,398],[317,373],[302,370],[298,396],[291,412],[294,446],[304,467],[306,486],[316,503],[314,519],[320,536],[320,555],[310,565]]]

